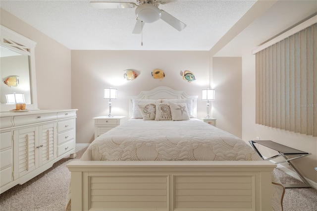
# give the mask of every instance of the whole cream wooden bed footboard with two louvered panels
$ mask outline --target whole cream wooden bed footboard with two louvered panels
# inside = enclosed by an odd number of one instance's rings
[[[72,211],[272,210],[269,161],[80,161]]]

